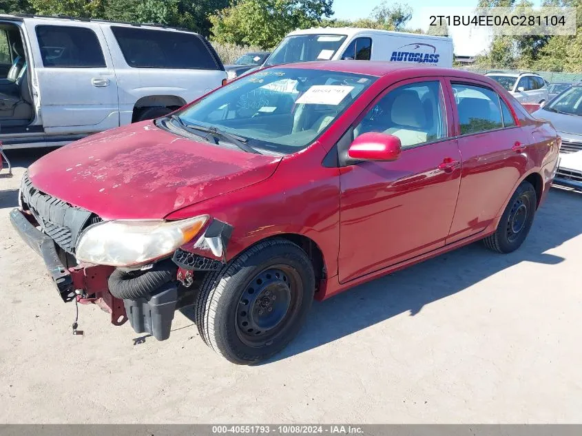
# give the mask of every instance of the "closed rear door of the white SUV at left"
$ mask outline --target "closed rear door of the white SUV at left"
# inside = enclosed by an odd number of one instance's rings
[[[30,19],[26,31],[45,131],[87,133],[118,126],[116,77],[100,25]]]

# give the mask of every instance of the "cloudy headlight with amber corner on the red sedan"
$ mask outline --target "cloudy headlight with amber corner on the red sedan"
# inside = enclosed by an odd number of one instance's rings
[[[134,267],[167,256],[194,238],[208,216],[177,221],[105,221],[87,227],[76,245],[77,260]]]

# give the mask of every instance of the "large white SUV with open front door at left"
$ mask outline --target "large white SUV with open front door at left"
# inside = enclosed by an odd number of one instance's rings
[[[110,21],[0,14],[0,140],[64,145],[156,118],[224,83],[204,37]]]

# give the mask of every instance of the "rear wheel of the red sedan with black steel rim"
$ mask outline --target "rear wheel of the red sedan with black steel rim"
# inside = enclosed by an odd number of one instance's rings
[[[536,207],[536,191],[531,183],[523,181],[503,211],[495,233],[484,238],[485,246],[498,253],[517,250],[530,232]]]

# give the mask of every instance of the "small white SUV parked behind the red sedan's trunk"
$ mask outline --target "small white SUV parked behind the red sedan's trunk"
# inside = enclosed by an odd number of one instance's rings
[[[520,103],[545,103],[548,101],[548,83],[538,74],[488,72],[485,75],[503,86]]]

